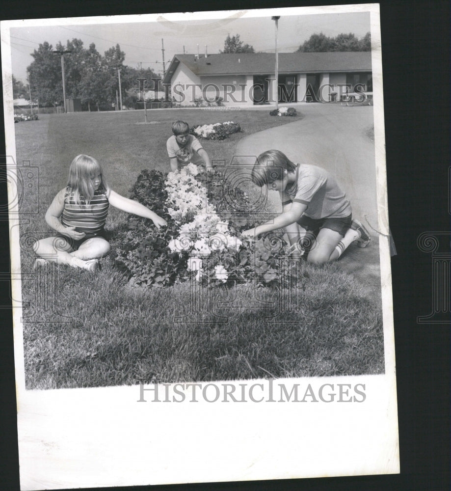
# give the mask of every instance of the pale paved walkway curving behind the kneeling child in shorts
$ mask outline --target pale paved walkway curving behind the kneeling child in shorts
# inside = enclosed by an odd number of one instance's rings
[[[304,115],[303,119],[296,118],[292,123],[243,138],[235,155],[257,156],[265,150],[277,149],[293,162],[323,167],[346,192],[353,217],[365,226],[367,217],[377,229],[374,144],[367,135],[373,124],[373,107],[304,104],[296,109]],[[270,191],[269,195],[274,209],[280,211],[278,193]],[[379,241],[377,233],[370,232],[370,245],[364,249],[351,245],[340,264],[359,278],[367,292],[380,294]]]

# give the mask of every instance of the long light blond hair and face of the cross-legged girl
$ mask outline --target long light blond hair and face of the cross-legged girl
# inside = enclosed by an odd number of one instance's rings
[[[72,161],[69,167],[69,179],[67,186],[71,190],[71,196],[76,203],[80,204],[81,201],[85,201],[89,204],[94,196],[94,186],[91,183],[91,179],[97,174],[101,174],[101,182],[99,190],[108,190],[102,167],[94,157],[89,155],[77,155]]]

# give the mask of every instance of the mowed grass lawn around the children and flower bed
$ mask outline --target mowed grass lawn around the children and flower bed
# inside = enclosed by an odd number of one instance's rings
[[[142,169],[169,169],[165,142],[177,119],[239,123],[243,133],[203,141],[224,164],[243,136],[291,121],[268,111],[199,109],[149,110],[147,119],[155,124],[135,124],[143,111],[91,112],[15,125],[17,161],[39,168],[39,186],[22,208],[33,215],[21,224],[27,388],[383,373],[380,300],[339,265],[304,263],[295,302],[292,292],[238,285],[197,292],[191,305],[193,285],[131,288],[109,257],[96,275],[62,266],[27,275],[30,244],[52,235],[44,214],[76,155],[98,159],[110,186],[127,196]],[[114,234],[126,218],[111,207],[106,228]]]

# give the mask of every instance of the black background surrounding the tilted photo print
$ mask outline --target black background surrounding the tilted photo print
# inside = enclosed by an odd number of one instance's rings
[[[0,15],[2,20],[38,19],[338,3],[351,2],[27,0],[3,2]],[[432,257],[418,248],[417,239],[423,232],[450,231],[450,2],[381,1],[380,14],[389,216],[398,252],[392,258],[392,274],[401,473],[133,490],[450,489],[450,323],[416,322],[417,316],[432,311]],[[4,140],[0,154],[5,154]],[[4,273],[9,271],[7,221],[0,220],[0,227],[0,272]],[[450,236],[447,241],[445,251],[449,252]],[[0,288],[1,303],[7,303],[8,282],[0,281]],[[19,463],[10,309],[0,308],[0,322],[0,488],[15,491],[19,490]]]

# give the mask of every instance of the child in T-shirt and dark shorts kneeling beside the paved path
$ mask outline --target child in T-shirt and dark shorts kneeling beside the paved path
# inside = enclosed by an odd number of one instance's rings
[[[251,178],[259,187],[279,191],[283,213],[244,231],[244,237],[285,228],[292,246],[309,245],[307,261],[314,264],[338,259],[354,241],[359,247],[369,244],[369,233],[352,219],[349,200],[324,169],[293,164],[279,150],[268,150],[258,156]]]

